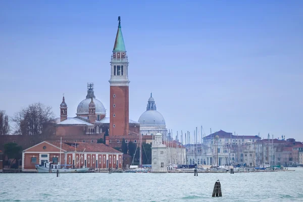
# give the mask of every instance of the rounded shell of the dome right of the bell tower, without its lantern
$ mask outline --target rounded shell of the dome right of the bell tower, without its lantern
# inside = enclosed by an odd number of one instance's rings
[[[139,118],[138,122],[141,125],[165,125],[165,119],[156,110],[145,111]]]

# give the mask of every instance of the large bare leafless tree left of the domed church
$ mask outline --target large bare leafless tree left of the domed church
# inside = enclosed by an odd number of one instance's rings
[[[13,119],[16,123],[15,134],[37,135],[42,133],[42,125],[55,120],[52,107],[34,103],[17,112]]]

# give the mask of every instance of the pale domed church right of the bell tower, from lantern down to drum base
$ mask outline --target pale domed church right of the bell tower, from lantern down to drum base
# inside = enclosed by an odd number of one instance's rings
[[[157,111],[157,106],[153,94],[147,102],[146,111],[139,117],[141,135],[163,134],[163,139],[167,140],[167,128],[165,119],[160,112]]]

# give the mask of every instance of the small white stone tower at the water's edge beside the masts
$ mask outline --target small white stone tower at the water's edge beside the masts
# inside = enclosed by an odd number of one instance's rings
[[[167,173],[166,145],[162,142],[162,134],[157,133],[151,145],[151,172]]]

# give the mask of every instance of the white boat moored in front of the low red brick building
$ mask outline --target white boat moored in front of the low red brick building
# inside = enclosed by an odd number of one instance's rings
[[[84,173],[89,170],[89,168],[66,168],[66,166],[72,165],[57,165],[52,164],[52,162],[44,162],[43,165],[35,165],[38,173]],[[62,167],[63,166],[63,167]]]

